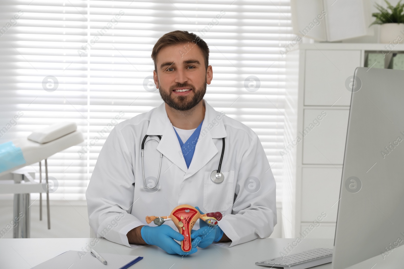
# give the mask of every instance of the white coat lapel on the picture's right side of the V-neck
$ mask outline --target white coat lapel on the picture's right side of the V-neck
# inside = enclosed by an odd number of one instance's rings
[[[205,117],[199,134],[199,140],[196,143],[194,156],[184,179],[191,177],[202,169],[219,152],[213,139],[221,139],[227,136],[223,121],[216,118],[220,115],[219,112],[215,111],[205,100],[204,104],[206,108]],[[219,167],[219,163],[217,163],[217,166]]]

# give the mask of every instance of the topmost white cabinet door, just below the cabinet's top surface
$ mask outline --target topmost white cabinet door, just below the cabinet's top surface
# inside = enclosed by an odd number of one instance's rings
[[[305,50],[304,104],[349,106],[345,81],[361,65],[360,50]]]

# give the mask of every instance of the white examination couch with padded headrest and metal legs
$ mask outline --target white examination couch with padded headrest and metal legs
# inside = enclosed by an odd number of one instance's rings
[[[14,219],[19,214],[24,214],[19,224],[13,228],[13,238],[29,238],[30,236],[30,193],[40,193],[40,220],[42,220],[42,192],[46,192],[48,229],[50,229],[47,158],[83,141],[82,133],[77,130],[77,125],[73,122],[55,123],[32,132],[27,138],[12,140],[13,149],[17,148],[19,150],[15,150],[18,155],[15,152],[13,153],[21,161],[25,161],[24,164],[9,167],[5,171],[0,170],[0,194],[14,194]],[[0,162],[2,161],[2,156],[3,158],[7,158],[8,155],[2,155],[0,152]],[[42,160],[45,160],[44,182],[42,182]],[[35,173],[20,172],[17,170],[25,166],[32,166],[32,164],[38,162],[39,182],[34,179]]]

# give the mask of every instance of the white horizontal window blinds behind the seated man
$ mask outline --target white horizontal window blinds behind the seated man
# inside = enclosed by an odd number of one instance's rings
[[[111,129],[162,103],[150,54],[179,29],[208,44],[214,75],[205,99],[258,134],[281,200],[289,0],[20,0],[0,12],[0,27],[19,15],[0,29],[0,127],[23,113],[0,142],[59,121],[84,134],[83,144],[48,159],[59,185],[50,199],[84,200]]]

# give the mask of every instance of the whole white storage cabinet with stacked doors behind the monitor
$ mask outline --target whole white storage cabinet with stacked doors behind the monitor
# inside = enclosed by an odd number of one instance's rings
[[[308,237],[335,236],[351,98],[345,81],[364,66],[366,51],[383,50],[385,44],[314,43],[286,54],[286,155],[279,216],[284,237],[307,231],[322,212],[327,217]],[[394,50],[404,51],[404,44]]]

